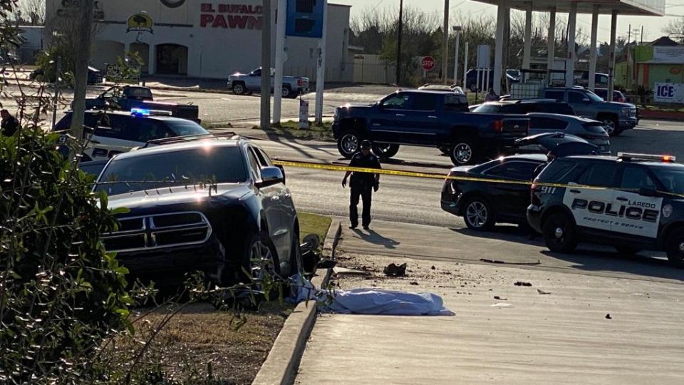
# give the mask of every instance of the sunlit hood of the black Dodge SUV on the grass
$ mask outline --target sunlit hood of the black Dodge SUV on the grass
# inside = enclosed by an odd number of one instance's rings
[[[215,185],[209,192],[207,188],[195,188],[192,185],[175,186],[171,188],[152,188],[149,190],[133,191],[109,197],[108,208],[126,207],[132,214],[139,212],[178,209],[195,209],[207,203],[229,205],[249,194],[250,188],[245,184],[224,183]]]

